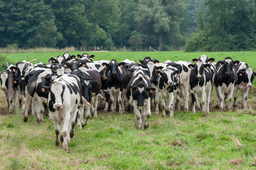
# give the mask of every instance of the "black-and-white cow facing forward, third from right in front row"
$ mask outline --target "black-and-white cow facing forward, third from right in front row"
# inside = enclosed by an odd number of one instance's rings
[[[210,94],[213,86],[213,74],[210,71],[210,64],[203,64],[201,60],[196,64],[189,64],[191,74],[189,85],[191,87],[192,113],[196,113],[196,94],[201,94],[202,111],[209,113]],[[198,106],[200,108],[200,106]]]

